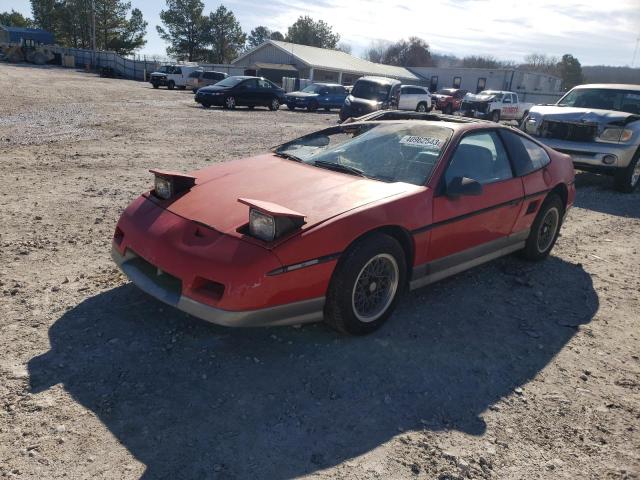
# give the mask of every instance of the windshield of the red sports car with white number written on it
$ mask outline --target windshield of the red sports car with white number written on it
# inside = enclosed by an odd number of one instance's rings
[[[354,123],[306,135],[274,151],[319,168],[424,185],[452,133],[424,122]]]

